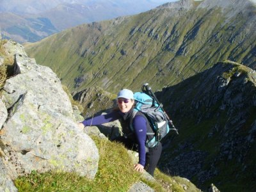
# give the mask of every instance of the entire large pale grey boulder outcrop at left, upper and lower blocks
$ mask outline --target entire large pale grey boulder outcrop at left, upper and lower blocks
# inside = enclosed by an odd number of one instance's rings
[[[15,64],[17,75],[6,81],[1,97],[10,108],[1,129],[1,149],[11,179],[32,170],[56,169],[93,179],[99,153],[93,140],[77,127],[60,79],[26,54],[16,54]]]

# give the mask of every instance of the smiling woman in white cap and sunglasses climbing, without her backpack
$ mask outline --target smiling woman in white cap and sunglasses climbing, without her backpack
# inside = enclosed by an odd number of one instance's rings
[[[161,156],[162,145],[158,142],[158,144],[152,148],[147,148],[145,146],[147,141],[147,130],[151,128],[147,118],[142,113],[136,113],[136,116],[132,118],[134,132],[131,132],[129,129],[131,115],[134,109],[134,98],[131,90],[121,90],[118,93],[116,100],[118,110],[112,111],[106,115],[88,118],[78,125],[83,129],[85,126],[100,125],[120,119],[124,136],[117,140],[124,143],[127,148],[134,148],[135,145],[138,145],[139,162],[134,164],[134,169],[138,172],[143,172],[143,169],[145,169],[150,175],[154,176],[154,170],[156,169],[159,157]]]

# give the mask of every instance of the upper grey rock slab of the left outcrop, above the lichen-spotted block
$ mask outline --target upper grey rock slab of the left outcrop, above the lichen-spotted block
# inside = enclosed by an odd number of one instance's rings
[[[31,102],[38,109],[48,108],[75,120],[68,95],[51,68],[36,65],[35,60],[25,55],[16,55],[15,61],[16,71],[20,71],[21,74],[6,81],[2,97],[6,108],[11,108],[21,95],[31,90],[35,95]]]

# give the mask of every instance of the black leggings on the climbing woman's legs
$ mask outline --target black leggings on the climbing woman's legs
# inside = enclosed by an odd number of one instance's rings
[[[134,145],[134,142],[122,136],[116,138],[115,141],[120,141],[125,145],[126,148],[130,150],[138,150],[138,148],[136,147],[136,144]],[[162,144],[158,142],[158,145],[156,147],[148,148],[148,152],[146,153],[145,170],[153,177],[154,177],[154,171],[156,169],[157,163],[161,156],[161,152],[162,152]]]

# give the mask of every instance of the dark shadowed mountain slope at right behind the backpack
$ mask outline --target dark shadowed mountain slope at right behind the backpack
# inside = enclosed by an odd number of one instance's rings
[[[156,95],[179,129],[166,139],[162,170],[201,189],[255,191],[255,70],[220,62]]]

